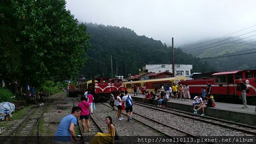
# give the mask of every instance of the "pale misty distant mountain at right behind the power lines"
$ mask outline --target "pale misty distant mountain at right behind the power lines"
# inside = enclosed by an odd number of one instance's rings
[[[185,53],[207,61],[216,71],[255,69],[256,41],[254,39],[222,37],[209,42],[191,43],[180,48]]]

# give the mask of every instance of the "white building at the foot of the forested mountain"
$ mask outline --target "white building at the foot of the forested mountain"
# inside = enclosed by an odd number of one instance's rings
[[[176,75],[189,76],[190,70],[193,68],[191,64],[175,64]],[[172,72],[172,64],[145,64],[143,71],[147,72]]]

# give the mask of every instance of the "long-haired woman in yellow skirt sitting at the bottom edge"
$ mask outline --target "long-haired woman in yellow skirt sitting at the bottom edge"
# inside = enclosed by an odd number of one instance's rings
[[[116,130],[112,118],[107,116],[105,121],[108,124],[108,133],[98,132],[90,141],[90,144],[114,144]]]

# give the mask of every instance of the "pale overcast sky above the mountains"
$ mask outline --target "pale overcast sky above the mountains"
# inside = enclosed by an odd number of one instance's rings
[[[168,45],[174,37],[175,47],[256,25],[256,0],[67,0],[66,9],[80,22],[127,27]]]

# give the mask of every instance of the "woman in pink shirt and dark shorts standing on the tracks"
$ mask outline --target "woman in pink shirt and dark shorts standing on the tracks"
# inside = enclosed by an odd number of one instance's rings
[[[78,107],[81,109],[81,114],[80,114],[80,120],[82,122],[82,127],[85,130],[85,121],[87,124],[88,132],[90,132],[90,122],[89,122],[89,116],[90,116],[90,104],[85,101],[85,96],[81,96],[81,102],[78,103]]]

